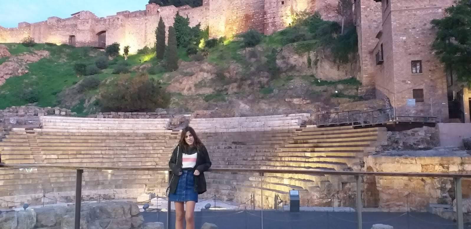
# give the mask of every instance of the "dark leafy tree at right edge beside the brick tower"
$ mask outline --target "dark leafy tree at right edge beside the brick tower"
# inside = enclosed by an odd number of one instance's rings
[[[438,30],[432,49],[447,70],[471,86],[471,2],[456,0],[445,12],[444,18],[431,21]]]

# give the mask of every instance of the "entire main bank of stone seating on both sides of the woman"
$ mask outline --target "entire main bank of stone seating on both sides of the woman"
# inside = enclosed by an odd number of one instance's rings
[[[54,126],[58,126],[57,123]],[[180,132],[145,131],[151,130],[14,129],[0,142],[0,153],[7,164],[166,168]],[[197,132],[209,151],[212,168],[358,170],[361,158],[386,140],[384,128],[353,129],[350,126]],[[57,198],[54,199],[58,200],[73,198],[74,171],[1,171],[0,198],[16,202],[19,198],[16,196],[20,196],[32,200],[43,192],[55,193]],[[84,195],[89,199],[96,198],[97,194],[114,198],[137,198],[149,192],[162,195],[167,182],[165,174],[160,172],[154,176],[154,173],[89,171],[84,175],[84,193],[87,193]],[[208,192],[202,198],[216,194],[219,198],[242,203],[256,194],[257,206],[263,198],[264,207],[273,207],[276,195],[287,200],[291,189],[300,190],[301,203],[305,204],[333,195],[355,182],[353,177],[347,176],[284,173],[265,173],[260,177],[257,173],[209,172],[206,178]],[[262,190],[263,196],[260,196]]]

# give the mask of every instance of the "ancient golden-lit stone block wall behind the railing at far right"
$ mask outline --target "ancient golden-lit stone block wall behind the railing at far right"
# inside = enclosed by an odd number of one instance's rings
[[[440,150],[414,156],[372,155],[365,157],[365,170],[371,172],[470,172],[471,157]],[[427,156],[427,154],[432,156]],[[455,155],[454,155],[455,154]],[[452,204],[453,179],[369,176],[365,178],[366,207],[389,211],[425,211],[428,204]],[[463,198],[468,198],[471,180],[463,180]]]

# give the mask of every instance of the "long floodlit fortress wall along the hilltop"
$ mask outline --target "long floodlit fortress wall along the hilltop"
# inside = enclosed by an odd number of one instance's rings
[[[232,36],[256,29],[271,34],[289,26],[297,12],[319,11],[326,20],[339,20],[337,0],[203,0],[200,7],[147,4],[145,10],[121,11],[113,16],[97,17],[80,11],[69,18],[49,17],[38,23],[22,22],[17,28],[0,26],[0,43],[20,42],[31,36],[36,42],[70,43],[95,46],[118,42],[129,45],[135,53],[145,45],[154,46],[155,28],[162,16],[166,28],[173,25],[179,12],[190,19],[190,25],[209,26],[211,37]]]

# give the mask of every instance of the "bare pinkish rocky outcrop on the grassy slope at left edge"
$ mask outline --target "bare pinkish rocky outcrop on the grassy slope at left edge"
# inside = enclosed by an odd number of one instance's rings
[[[49,57],[49,51],[35,50],[33,53],[24,53],[10,57],[5,63],[0,65],[0,85],[12,76],[24,75],[28,73],[28,64]]]

